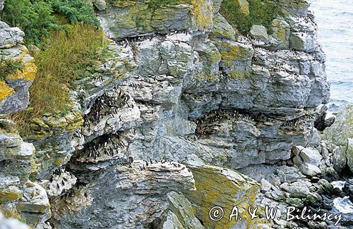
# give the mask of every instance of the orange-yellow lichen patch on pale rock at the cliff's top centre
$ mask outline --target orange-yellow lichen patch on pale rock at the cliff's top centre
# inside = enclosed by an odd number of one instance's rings
[[[193,0],[193,14],[200,30],[213,27],[213,8],[211,1]]]

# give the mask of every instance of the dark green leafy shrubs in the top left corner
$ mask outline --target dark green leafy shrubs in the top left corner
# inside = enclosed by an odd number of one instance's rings
[[[1,20],[25,32],[25,43],[39,44],[43,35],[62,26],[56,16],[64,16],[69,23],[83,21],[98,26],[95,12],[85,0],[5,0]]]

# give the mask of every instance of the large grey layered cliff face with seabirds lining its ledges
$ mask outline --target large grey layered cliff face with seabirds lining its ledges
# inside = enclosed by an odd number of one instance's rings
[[[258,180],[265,198],[314,202],[306,175],[321,169],[316,151],[296,155],[300,170],[261,165],[320,145],[313,125],[329,86],[304,1],[281,1],[289,17],[273,20],[272,35],[254,25],[248,37],[220,15],[222,1],[92,2],[111,55],[77,83],[72,111],[33,120],[28,136],[54,228],[255,227],[264,222],[246,209],[259,185],[246,170],[257,166],[276,174]],[[44,201],[21,206],[45,221]],[[212,206],[229,216],[234,203],[244,221],[210,220]]]

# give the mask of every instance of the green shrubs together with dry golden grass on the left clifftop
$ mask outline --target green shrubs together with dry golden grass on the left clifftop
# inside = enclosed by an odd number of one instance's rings
[[[11,115],[20,133],[28,135],[32,118],[70,109],[69,90],[104,58],[104,35],[87,0],[5,0],[0,16],[25,32],[25,44],[40,47],[32,51],[38,71],[30,105]],[[20,62],[1,61],[0,80],[22,67]]]

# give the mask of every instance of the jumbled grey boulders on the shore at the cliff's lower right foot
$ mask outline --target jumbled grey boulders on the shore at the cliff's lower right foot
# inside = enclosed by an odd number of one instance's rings
[[[340,171],[335,168],[335,151],[328,144],[323,140],[316,148],[296,146],[292,149],[292,158],[287,161],[275,165],[253,165],[239,170],[261,184],[256,203],[260,207],[277,208],[276,217],[280,219],[275,220],[274,227],[335,228],[335,219],[285,221],[288,206],[310,211],[324,209],[325,213],[333,215],[342,213],[340,225],[352,223],[352,210],[348,210],[352,206],[349,201],[349,198],[352,199],[352,179],[332,182],[337,180],[337,172]]]

